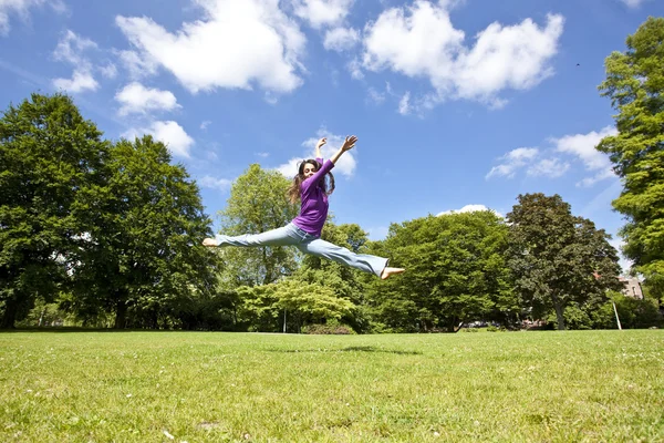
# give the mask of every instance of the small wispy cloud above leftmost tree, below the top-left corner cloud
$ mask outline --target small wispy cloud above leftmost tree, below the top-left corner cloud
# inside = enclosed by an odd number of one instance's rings
[[[97,49],[95,42],[68,30],[58,42],[53,58],[72,64],[74,72],[71,79],[54,79],[53,85],[70,93],[96,91],[100,84],[92,75],[93,65],[83,54],[86,50],[94,49]]]

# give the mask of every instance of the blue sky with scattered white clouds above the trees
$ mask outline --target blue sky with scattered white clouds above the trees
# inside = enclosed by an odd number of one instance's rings
[[[251,164],[356,148],[331,210],[391,223],[560,194],[615,236],[604,59],[661,0],[0,0],[0,104],[64,90],[105,136],[152,133],[214,218]],[[215,222],[218,225],[218,222]]]

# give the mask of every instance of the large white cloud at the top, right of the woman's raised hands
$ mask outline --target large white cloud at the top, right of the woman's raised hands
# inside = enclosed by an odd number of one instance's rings
[[[564,19],[547,18],[544,28],[531,19],[504,27],[491,23],[465,45],[465,33],[454,28],[450,4],[416,0],[392,8],[364,29],[363,66],[426,78],[436,102],[468,99],[501,107],[498,94],[507,89],[530,89],[552,74],[549,62],[558,50]]]

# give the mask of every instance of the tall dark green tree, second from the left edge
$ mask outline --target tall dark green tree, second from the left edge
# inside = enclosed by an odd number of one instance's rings
[[[115,312],[115,328],[157,328],[175,326],[179,311],[211,297],[217,260],[201,245],[211,222],[196,183],[170,159],[152,136],[113,145],[104,182],[76,206],[89,230],[69,257],[71,310]]]

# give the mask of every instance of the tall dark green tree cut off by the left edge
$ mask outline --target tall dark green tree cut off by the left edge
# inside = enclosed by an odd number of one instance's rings
[[[68,280],[64,257],[86,229],[72,210],[102,179],[108,144],[72,99],[32,94],[0,119],[0,328]]]

